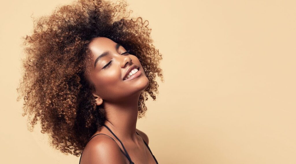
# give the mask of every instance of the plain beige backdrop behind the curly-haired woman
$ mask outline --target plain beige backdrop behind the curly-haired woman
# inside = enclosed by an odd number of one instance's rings
[[[16,102],[31,15],[71,0],[1,1],[1,163],[76,163],[27,130]],[[128,0],[149,20],[165,82],[137,128],[160,164],[296,163],[296,2]]]

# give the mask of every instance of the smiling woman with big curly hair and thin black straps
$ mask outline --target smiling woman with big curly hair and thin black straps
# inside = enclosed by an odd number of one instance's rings
[[[23,115],[81,164],[157,163],[136,122],[148,94],[156,99],[162,56],[148,21],[129,18],[125,7],[80,0],[40,17],[24,37]]]

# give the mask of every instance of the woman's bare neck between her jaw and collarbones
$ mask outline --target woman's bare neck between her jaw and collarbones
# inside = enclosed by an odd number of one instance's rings
[[[136,124],[139,95],[122,102],[104,101],[107,125],[113,133],[125,142],[137,143]]]

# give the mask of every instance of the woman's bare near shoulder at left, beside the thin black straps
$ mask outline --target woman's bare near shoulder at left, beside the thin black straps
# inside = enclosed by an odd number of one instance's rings
[[[109,136],[96,135],[84,148],[80,164],[124,164],[125,159],[118,144]]]

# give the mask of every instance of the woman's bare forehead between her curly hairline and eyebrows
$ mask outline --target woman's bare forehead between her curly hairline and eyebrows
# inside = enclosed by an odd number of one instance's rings
[[[107,50],[114,49],[116,43],[109,38],[98,37],[91,40],[89,43],[89,49],[94,54],[100,54]]]

